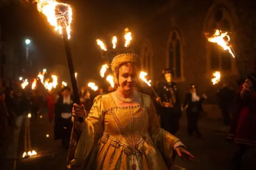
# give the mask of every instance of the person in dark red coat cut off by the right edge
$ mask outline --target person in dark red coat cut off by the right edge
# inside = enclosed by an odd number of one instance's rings
[[[233,158],[234,169],[242,169],[242,157],[246,151],[256,146],[256,63],[254,73],[250,74],[239,87],[236,96],[236,108],[231,122],[228,140],[238,144]]]

